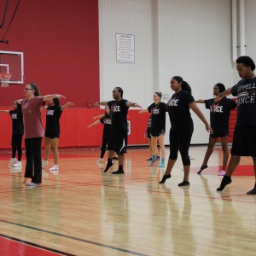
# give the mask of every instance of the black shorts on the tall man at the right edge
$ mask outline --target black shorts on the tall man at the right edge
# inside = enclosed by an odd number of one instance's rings
[[[231,154],[256,157],[256,126],[236,125]]]

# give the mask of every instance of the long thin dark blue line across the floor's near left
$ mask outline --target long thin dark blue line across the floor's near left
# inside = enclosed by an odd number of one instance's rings
[[[149,256],[148,254],[137,253],[137,252],[134,252],[134,251],[123,249],[123,248],[109,246],[109,245],[103,244],[101,242],[90,241],[90,240],[86,240],[86,239],[82,239],[82,238],[78,238],[78,237],[74,237],[74,236],[67,236],[67,235],[52,232],[52,231],[49,231],[49,230],[42,230],[42,229],[38,229],[38,228],[31,227],[31,226],[28,226],[28,225],[18,224],[18,223],[10,222],[10,221],[3,220],[3,219],[0,219],[0,222],[5,223],[5,224],[12,224],[12,225],[20,226],[22,228],[26,228],[26,229],[30,229],[30,230],[36,230],[36,231],[39,231],[39,232],[48,233],[48,234],[54,235],[54,236],[65,237],[65,238],[72,239],[72,240],[75,240],[75,241],[82,241],[84,243],[88,243],[88,244],[95,245],[95,246],[98,246],[98,247],[105,247],[105,248],[112,249],[112,250],[115,250],[115,251],[119,251],[119,252],[122,252],[122,253],[130,253],[132,255],[138,255],[138,256]],[[72,255],[72,254],[64,254],[64,255]]]

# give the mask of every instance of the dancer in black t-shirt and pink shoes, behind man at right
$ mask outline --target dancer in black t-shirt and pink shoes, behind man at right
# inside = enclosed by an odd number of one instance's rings
[[[213,86],[213,95],[216,97],[220,93],[224,92],[225,86],[224,84],[215,84]],[[231,109],[236,108],[236,101],[228,99],[224,97],[219,102],[214,102],[214,98],[209,100],[199,100],[196,103],[205,103],[207,109],[210,109],[210,121],[213,133],[210,134],[209,143],[207,147],[207,152],[203,163],[201,165],[200,170],[197,174],[201,174],[201,172],[206,169],[208,160],[212,154],[215,143],[217,143],[218,137],[220,137],[221,146],[223,150],[223,166],[222,170],[218,172],[219,176],[225,175],[225,170],[227,166],[227,162],[229,159],[229,121],[230,121],[230,111]]]

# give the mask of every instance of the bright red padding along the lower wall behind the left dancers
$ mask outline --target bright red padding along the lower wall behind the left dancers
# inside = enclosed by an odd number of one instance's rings
[[[0,108],[4,109],[4,108]],[[45,125],[45,113],[43,109]],[[102,143],[103,125],[96,125],[89,129],[86,127],[95,122],[94,116],[104,113],[102,109],[67,108],[61,115],[60,147],[90,147],[100,146]],[[128,137],[129,145],[147,144],[144,133],[148,124],[148,113],[139,114],[138,110],[129,110],[131,121],[131,135]],[[0,113],[0,148],[11,148],[11,118],[9,114]],[[44,145],[44,143],[43,143]],[[24,142],[23,142],[24,147]]]

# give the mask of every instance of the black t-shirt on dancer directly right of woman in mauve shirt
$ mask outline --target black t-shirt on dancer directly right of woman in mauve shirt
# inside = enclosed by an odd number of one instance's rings
[[[45,132],[60,132],[61,106],[49,106],[46,110]]]

